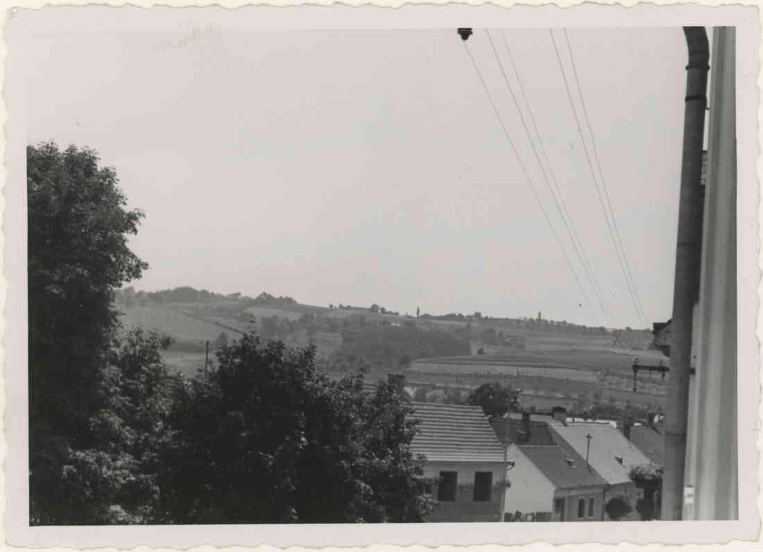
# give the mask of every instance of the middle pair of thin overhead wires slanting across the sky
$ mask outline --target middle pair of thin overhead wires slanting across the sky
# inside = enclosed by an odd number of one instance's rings
[[[562,197],[562,193],[559,190],[559,185],[556,184],[556,193],[554,191],[554,188],[552,188],[551,183],[549,182],[549,177],[546,175],[546,168],[544,168],[543,163],[540,159],[540,156],[538,154],[538,150],[535,147],[535,143],[533,141],[532,133],[530,133],[530,128],[527,127],[527,123],[525,121],[524,115],[522,114],[522,108],[520,108],[519,101],[517,101],[517,96],[514,94],[513,89],[511,88],[509,79],[506,75],[506,71],[504,70],[504,64],[501,63],[501,57],[498,56],[498,51],[495,47],[495,43],[493,42],[493,37],[490,34],[490,30],[485,30],[486,34],[488,35],[488,40],[490,41],[491,48],[493,49],[493,53],[495,55],[495,59],[498,63],[498,67],[501,69],[501,74],[504,76],[504,82],[506,83],[506,88],[509,90],[509,94],[511,95],[511,99],[513,100],[514,107],[517,108],[517,112],[520,114],[520,120],[522,121],[522,126],[525,130],[525,133],[527,135],[527,140],[530,141],[530,146],[533,149],[533,154],[535,155],[535,159],[538,162],[538,165],[540,167],[541,174],[543,175],[544,181],[546,181],[546,187],[549,188],[549,191],[551,192],[551,197],[554,200],[554,204],[556,205],[556,210],[559,211],[559,217],[562,218],[562,223],[565,225],[565,229],[567,229],[567,234],[570,237],[570,241],[572,242],[572,249],[575,251],[575,255],[578,257],[578,261],[580,262],[581,266],[583,267],[583,271],[585,272],[588,282],[591,284],[591,287],[594,290],[594,295],[596,296],[599,306],[601,307],[601,310],[604,312],[604,318],[607,319],[607,323],[611,323],[612,316],[607,308],[607,303],[604,300],[604,297],[602,297],[600,287],[598,285],[598,282],[596,281],[596,278],[594,276],[593,269],[591,268],[591,264],[588,262],[588,257],[585,255],[585,251],[583,249],[582,243],[578,239],[578,233],[575,230],[575,223],[572,221],[571,217],[569,216],[569,213],[567,211],[567,207],[564,204],[564,197]],[[503,30],[501,30],[501,33],[503,34]],[[522,86],[522,81],[520,79],[519,72],[517,71],[517,66],[513,62],[513,56],[511,56],[511,51],[509,49],[509,45],[506,40],[506,35],[503,34],[504,37],[504,46],[506,47],[507,53],[509,55],[509,59],[511,61],[511,64],[514,69],[514,74],[517,76],[517,82],[519,82],[520,90],[522,91],[523,99],[525,101],[525,104],[527,105],[527,111],[530,114],[530,118],[533,121],[533,127],[535,128],[536,135],[538,136],[538,140],[541,146],[542,151],[545,153],[545,148],[542,147],[542,138],[540,136],[540,133],[538,132],[537,124],[535,123],[535,117],[533,116],[533,111],[530,108],[530,102],[527,101],[526,95],[524,94],[524,87]],[[549,162],[548,156],[546,156],[546,164],[549,165],[549,172],[552,173],[553,178],[553,172],[551,168],[551,163]],[[555,178],[554,178],[555,181]],[[559,194],[559,199],[557,199],[556,195]],[[569,221],[569,222],[568,222]]]

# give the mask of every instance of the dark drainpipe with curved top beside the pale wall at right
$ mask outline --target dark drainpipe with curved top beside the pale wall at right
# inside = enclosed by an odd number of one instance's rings
[[[684,470],[689,413],[689,369],[694,303],[697,300],[702,246],[700,179],[707,107],[710,48],[704,27],[684,27],[689,54],[686,66],[684,148],[678,200],[678,240],[675,254],[671,371],[665,416],[665,477],[662,519],[678,521],[684,505]]]

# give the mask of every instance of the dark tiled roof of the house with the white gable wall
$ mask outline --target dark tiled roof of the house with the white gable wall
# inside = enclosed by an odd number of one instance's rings
[[[520,446],[520,451],[559,489],[607,484],[575,451],[565,451],[556,445],[524,445]]]

